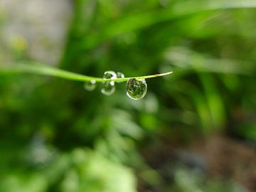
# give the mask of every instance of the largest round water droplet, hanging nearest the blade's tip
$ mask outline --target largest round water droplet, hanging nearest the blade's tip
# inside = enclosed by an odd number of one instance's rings
[[[132,100],[141,100],[146,95],[146,80],[137,80],[135,78],[127,81],[127,95]]]

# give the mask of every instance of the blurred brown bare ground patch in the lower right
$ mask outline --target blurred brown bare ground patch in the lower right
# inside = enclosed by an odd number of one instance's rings
[[[201,171],[206,177],[230,178],[249,191],[256,191],[255,145],[225,134],[198,137],[189,146],[165,141],[142,153],[149,165],[162,173],[166,182],[174,180],[177,164],[183,164]]]

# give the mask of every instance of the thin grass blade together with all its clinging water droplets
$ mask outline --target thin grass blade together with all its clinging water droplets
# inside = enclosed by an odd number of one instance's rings
[[[103,78],[96,78],[87,75],[81,75],[78,73],[73,73],[66,70],[61,70],[58,68],[52,68],[48,65],[42,63],[18,63],[17,65],[9,65],[8,67],[0,66],[0,75],[15,75],[17,73],[28,73],[36,75],[50,75],[55,78],[63,78],[67,80],[77,80],[86,82],[86,90],[94,90],[96,82],[102,82],[102,93],[105,95],[112,95],[114,93],[115,87],[114,82],[127,82],[127,95],[133,100],[140,100],[146,95],[147,85],[145,79],[148,78],[158,78],[165,75],[170,75],[172,71],[166,73],[160,73],[156,75],[144,75],[133,78],[124,78],[122,73],[114,73],[114,71],[109,70],[104,73]]]

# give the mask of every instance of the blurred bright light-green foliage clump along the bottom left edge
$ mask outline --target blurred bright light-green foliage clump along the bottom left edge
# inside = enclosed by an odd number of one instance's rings
[[[31,161],[31,159],[30,159]],[[62,180],[60,181],[60,175]],[[58,186],[55,186],[58,183]],[[135,191],[130,169],[114,163],[97,151],[75,149],[56,156],[37,171],[11,171],[1,176],[1,191]],[[51,186],[50,186],[51,185]]]

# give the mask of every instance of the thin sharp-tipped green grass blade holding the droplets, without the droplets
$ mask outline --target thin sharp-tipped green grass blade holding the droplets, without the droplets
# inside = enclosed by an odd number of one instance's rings
[[[81,75],[78,73],[69,72],[66,70],[61,70],[58,68],[53,68],[48,65],[42,63],[30,63],[30,64],[16,64],[16,65],[9,65],[9,66],[0,66],[0,75],[15,75],[18,73],[28,73],[34,75],[48,75],[53,76],[55,78],[63,78],[68,80],[76,80],[76,81],[90,81],[95,80],[96,82],[104,82],[110,81],[105,80],[103,78],[95,78],[87,75]],[[139,76],[139,77],[132,77],[136,79],[148,79],[148,78],[157,78],[165,75],[170,75],[172,72],[161,73],[156,75],[146,75],[146,76]],[[114,82],[124,82],[131,78],[117,78],[111,81]]]

